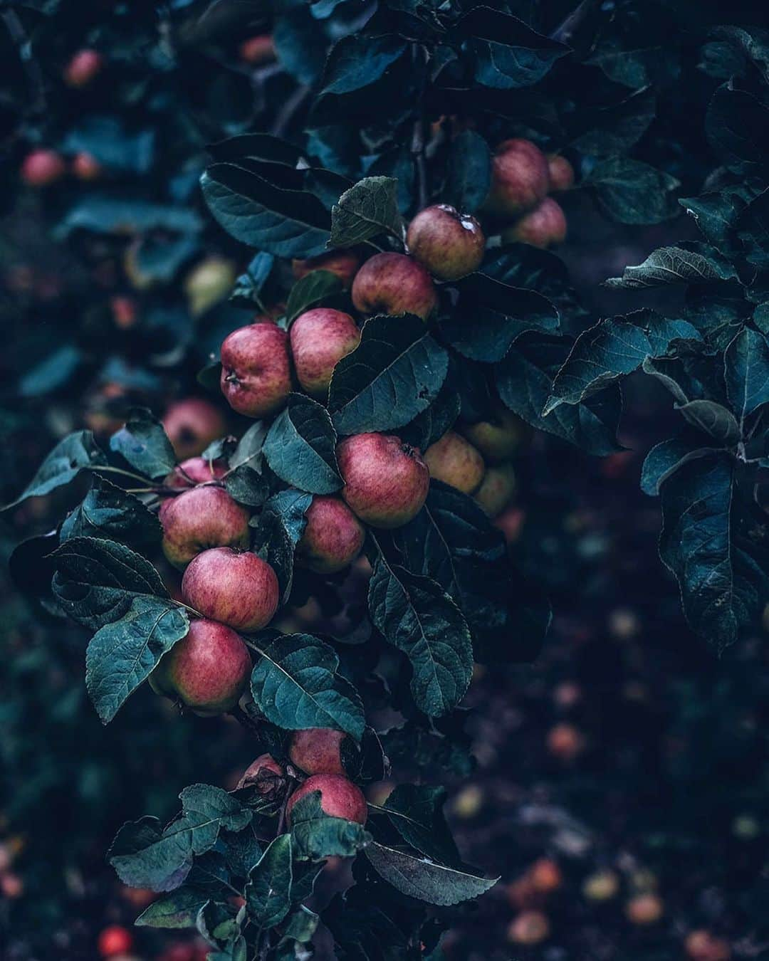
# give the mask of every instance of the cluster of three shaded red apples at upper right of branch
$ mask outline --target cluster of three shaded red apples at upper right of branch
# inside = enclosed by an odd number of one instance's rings
[[[494,152],[483,212],[500,222],[506,243],[546,249],[566,238],[566,217],[558,201],[548,195],[573,185],[574,168],[565,157],[545,156],[531,140],[514,137]]]

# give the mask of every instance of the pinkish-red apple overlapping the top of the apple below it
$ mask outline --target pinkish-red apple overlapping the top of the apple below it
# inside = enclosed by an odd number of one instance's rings
[[[266,627],[278,609],[280,593],[278,577],[266,560],[230,547],[202,551],[190,560],[182,578],[185,604],[236,630]]]

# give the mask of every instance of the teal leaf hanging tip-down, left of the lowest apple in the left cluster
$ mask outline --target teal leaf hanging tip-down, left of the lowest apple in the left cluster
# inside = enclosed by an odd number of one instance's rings
[[[112,721],[188,629],[186,611],[178,604],[135,597],[119,621],[96,631],[86,652],[86,687],[102,724]]]

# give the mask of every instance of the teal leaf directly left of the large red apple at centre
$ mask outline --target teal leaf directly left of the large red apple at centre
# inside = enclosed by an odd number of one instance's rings
[[[286,483],[311,494],[333,494],[343,483],[335,447],[328,410],[303,394],[289,394],[267,433],[264,456]]]

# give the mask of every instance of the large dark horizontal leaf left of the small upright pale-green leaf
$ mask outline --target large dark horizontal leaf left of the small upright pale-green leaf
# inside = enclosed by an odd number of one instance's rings
[[[326,250],[329,214],[308,191],[285,190],[234,163],[214,163],[201,178],[219,224],[275,257],[316,257]]]

